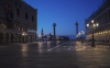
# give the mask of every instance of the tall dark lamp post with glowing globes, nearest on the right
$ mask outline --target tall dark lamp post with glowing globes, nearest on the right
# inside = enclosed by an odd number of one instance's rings
[[[95,37],[94,37],[94,30],[96,27],[98,27],[98,26],[99,26],[99,24],[98,23],[95,23],[94,20],[91,20],[91,23],[88,23],[87,24],[87,27],[90,27],[92,30],[92,44],[91,44],[91,47],[96,47],[96,45],[95,45]]]

